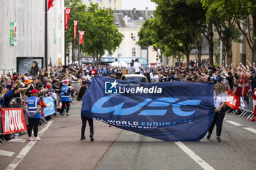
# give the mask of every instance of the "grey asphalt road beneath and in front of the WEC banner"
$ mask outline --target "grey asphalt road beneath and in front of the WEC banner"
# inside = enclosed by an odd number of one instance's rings
[[[90,142],[80,141],[80,106],[69,114],[42,125],[41,141],[7,141],[0,169],[256,169],[256,123],[245,117],[225,116],[222,142],[215,129],[211,140],[162,142],[96,120]]]

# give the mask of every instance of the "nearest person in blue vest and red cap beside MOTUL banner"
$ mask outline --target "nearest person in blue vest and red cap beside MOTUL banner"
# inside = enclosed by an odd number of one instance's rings
[[[41,101],[37,98],[39,91],[37,89],[31,90],[31,97],[27,99],[25,110],[29,116],[29,126],[28,126],[28,140],[31,141],[32,129],[34,129],[34,141],[41,140],[38,136],[38,125],[41,119]]]

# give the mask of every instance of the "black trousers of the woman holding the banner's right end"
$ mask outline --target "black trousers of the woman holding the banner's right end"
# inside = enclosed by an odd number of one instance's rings
[[[216,124],[216,134],[217,136],[220,136],[222,134],[222,122],[225,117],[225,109],[221,109],[219,112],[215,113],[214,121],[211,124],[211,128],[209,128],[208,133],[212,134],[212,131],[214,130],[214,126]]]

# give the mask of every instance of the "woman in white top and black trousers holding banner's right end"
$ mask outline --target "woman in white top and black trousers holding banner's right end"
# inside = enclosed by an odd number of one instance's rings
[[[214,126],[216,124],[217,131],[217,141],[221,142],[220,135],[222,133],[222,122],[225,117],[225,102],[226,98],[223,93],[223,86],[220,83],[214,85],[214,111],[216,112],[214,121],[211,124],[211,127],[208,130],[207,139],[211,138],[212,131],[214,130]]]

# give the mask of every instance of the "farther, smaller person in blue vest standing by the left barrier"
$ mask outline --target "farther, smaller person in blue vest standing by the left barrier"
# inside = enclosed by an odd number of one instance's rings
[[[61,88],[61,102],[62,102],[61,115],[64,115],[64,107],[66,106],[65,117],[69,116],[70,93],[71,93],[71,90],[69,87],[67,87],[67,85],[68,85],[68,82],[65,80]]]

